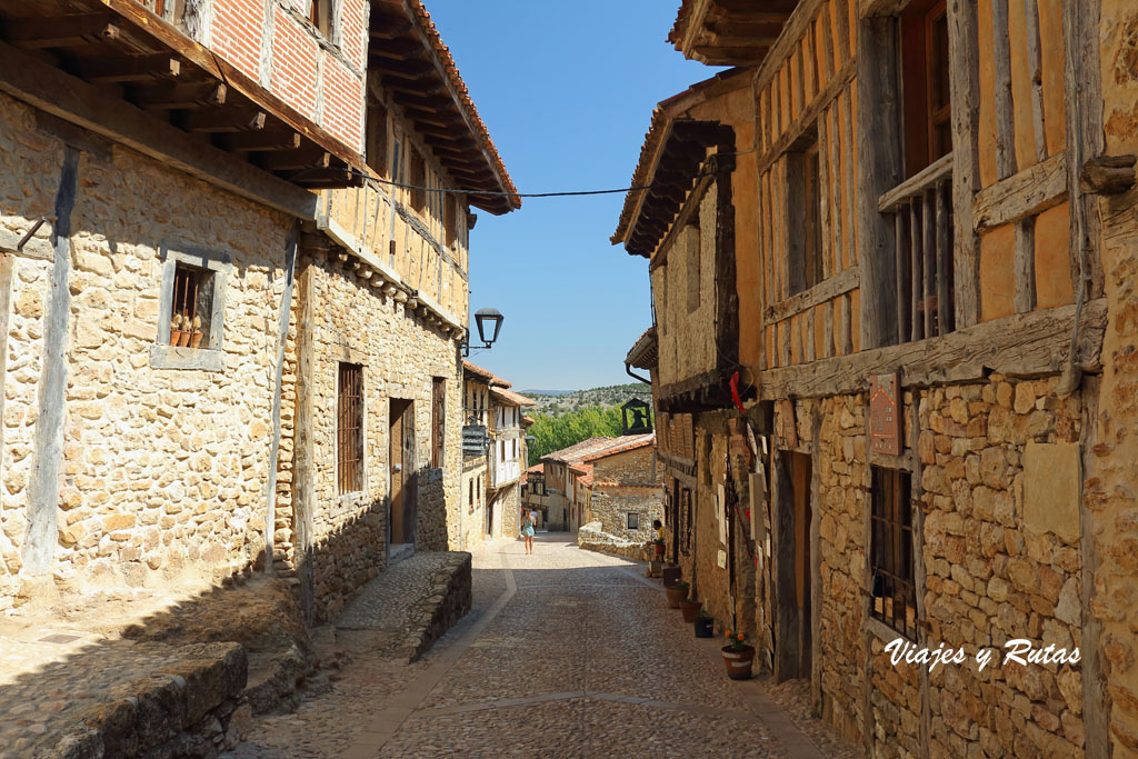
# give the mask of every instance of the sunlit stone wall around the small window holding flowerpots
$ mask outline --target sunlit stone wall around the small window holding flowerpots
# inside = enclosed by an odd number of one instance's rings
[[[63,154],[32,109],[0,96],[3,240],[52,213]],[[46,224],[23,254],[8,256],[0,605],[36,574],[75,592],[156,585],[256,562],[264,546],[272,325],[291,223],[117,146],[81,154],[77,175],[69,253],[55,265],[39,258],[52,255]],[[168,247],[231,261],[222,371],[151,365]],[[65,277],[66,298],[52,295],[53,271]],[[52,307],[66,310],[55,333]],[[41,382],[52,354],[66,372],[60,430],[38,423],[41,404],[56,403]],[[57,434],[61,482],[40,503],[48,529],[56,512],[57,531],[34,546],[28,494],[36,465],[51,459],[44,440]],[[38,566],[27,566],[31,554]]]

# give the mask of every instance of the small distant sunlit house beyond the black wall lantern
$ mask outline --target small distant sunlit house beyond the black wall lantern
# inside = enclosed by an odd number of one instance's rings
[[[521,528],[522,462],[527,447],[521,409],[534,401],[511,383],[469,361],[463,398],[462,546],[513,539]]]

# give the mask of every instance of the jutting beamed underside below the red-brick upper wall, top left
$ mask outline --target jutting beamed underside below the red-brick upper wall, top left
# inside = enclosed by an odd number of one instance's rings
[[[355,149],[132,0],[0,0],[0,40],[292,184],[361,183]]]

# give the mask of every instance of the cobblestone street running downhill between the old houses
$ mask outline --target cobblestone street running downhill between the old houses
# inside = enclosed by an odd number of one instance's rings
[[[473,609],[423,660],[356,654],[232,756],[857,756],[800,687],[727,679],[642,571],[563,534],[476,552]]]

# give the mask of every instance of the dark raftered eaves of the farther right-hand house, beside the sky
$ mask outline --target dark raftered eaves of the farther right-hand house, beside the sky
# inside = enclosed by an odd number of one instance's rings
[[[617,231],[610,238],[612,245],[624,242],[629,255],[651,257],[695,187],[708,148],[734,145],[729,126],[685,114],[708,99],[750,86],[752,74],[732,68],[660,101],[652,112],[630,184],[651,189],[630,190],[625,196]]]

